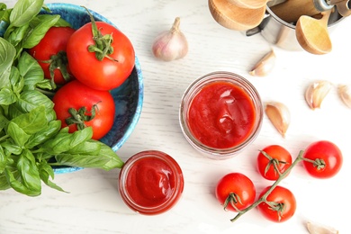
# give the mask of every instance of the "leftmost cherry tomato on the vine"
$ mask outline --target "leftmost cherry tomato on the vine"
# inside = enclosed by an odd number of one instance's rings
[[[228,211],[241,211],[255,202],[256,188],[252,181],[241,173],[224,175],[216,186],[217,200]]]

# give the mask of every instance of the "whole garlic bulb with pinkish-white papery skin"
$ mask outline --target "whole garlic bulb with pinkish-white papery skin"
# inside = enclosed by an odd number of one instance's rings
[[[180,18],[175,18],[172,28],[157,35],[152,44],[152,53],[156,58],[172,61],[184,58],[188,52],[188,42],[179,30]]]

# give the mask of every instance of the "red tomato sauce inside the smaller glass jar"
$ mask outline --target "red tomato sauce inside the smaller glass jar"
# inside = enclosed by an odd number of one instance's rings
[[[127,176],[127,190],[131,199],[144,207],[155,207],[166,202],[174,189],[173,171],[156,157],[139,159]]]

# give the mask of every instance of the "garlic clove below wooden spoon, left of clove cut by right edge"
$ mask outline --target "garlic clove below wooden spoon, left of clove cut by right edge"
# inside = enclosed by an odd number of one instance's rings
[[[308,86],[305,92],[305,100],[312,110],[320,108],[324,98],[329,94],[332,84],[329,81],[316,81]]]

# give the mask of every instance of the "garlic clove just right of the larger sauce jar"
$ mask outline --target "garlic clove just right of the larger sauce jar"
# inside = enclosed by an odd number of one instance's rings
[[[275,129],[285,137],[286,130],[290,125],[290,112],[286,105],[278,102],[266,103],[265,112]]]

